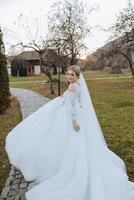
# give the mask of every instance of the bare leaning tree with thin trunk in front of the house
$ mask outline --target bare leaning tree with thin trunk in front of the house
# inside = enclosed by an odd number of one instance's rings
[[[38,53],[41,72],[48,76],[50,84],[50,93],[54,94],[52,85],[52,75],[50,69],[45,66],[45,62],[43,59],[43,54],[45,54],[48,51],[50,46],[47,39],[48,36],[44,36],[41,31],[43,28],[43,24],[40,23],[40,18],[33,17],[29,23],[27,18],[20,14],[18,24],[23,28],[23,32],[25,32],[26,37],[24,41],[23,39],[19,39],[19,42],[12,46],[21,46],[24,49],[32,49]]]

